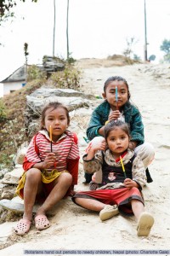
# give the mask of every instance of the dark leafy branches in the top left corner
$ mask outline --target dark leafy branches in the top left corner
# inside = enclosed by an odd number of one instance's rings
[[[23,3],[26,0],[20,0]],[[31,2],[37,3],[37,0],[31,0]],[[14,6],[16,6],[17,3],[15,0],[1,0],[0,1],[0,25],[1,22],[4,20],[7,20],[8,17],[13,17],[14,16],[14,12],[11,12],[11,9],[14,8]]]

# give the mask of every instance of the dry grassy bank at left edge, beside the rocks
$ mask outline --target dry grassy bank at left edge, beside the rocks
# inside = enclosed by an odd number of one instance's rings
[[[13,167],[13,156],[17,148],[27,141],[25,129],[26,96],[42,86],[44,80],[34,80],[20,90],[3,97],[7,119],[0,123],[1,167]],[[0,168],[1,169],[1,168]]]

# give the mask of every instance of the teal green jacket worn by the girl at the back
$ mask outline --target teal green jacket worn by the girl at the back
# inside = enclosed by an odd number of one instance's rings
[[[107,101],[101,103],[97,108],[94,109],[87,129],[87,137],[89,140],[99,136],[98,130],[105,125],[105,122],[108,120],[110,110],[111,107]],[[130,127],[131,141],[137,142],[138,146],[143,144],[144,125],[141,114],[139,113],[139,109],[135,108],[130,102],[127,102],[123,106],[122,111],[125,117],[125,122]]]

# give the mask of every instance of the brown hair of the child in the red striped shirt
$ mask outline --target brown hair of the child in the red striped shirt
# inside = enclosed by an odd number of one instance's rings
[[[42,109],[42,119],[41,119],[41,130],[44,129],[44,124],[45,124],[45,113],[46,111],[52,108],[52,110],[57,109],[57,108],[63,108],[65,109],[65,113],[66,113],[66,117],[67,117],[67,125],[70,124],[70,116],[69,116],[69,111],[68,109],[60,102],[49,102],[48,105],[46,105],[43,109]]]

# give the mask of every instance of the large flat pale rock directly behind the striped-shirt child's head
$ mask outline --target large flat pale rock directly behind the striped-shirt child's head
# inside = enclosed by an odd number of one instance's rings
[[[89,108],[93,105],[91,99],[94,100],[95,96],[72,89],[42,87],[35,90],[30,96],[26,96],[25,117],[28,137],[31,138],[33,134],[39,130],[42,108],[44,108],[48,102],[60,102],[68,108],[69,112],[71,112],[78,108]],[[77,113],[77,115],[79,113]],[[85,116],[87,114],[88,110],[86,110],[86,113],[85,110],[83,110],[82,115]]]

